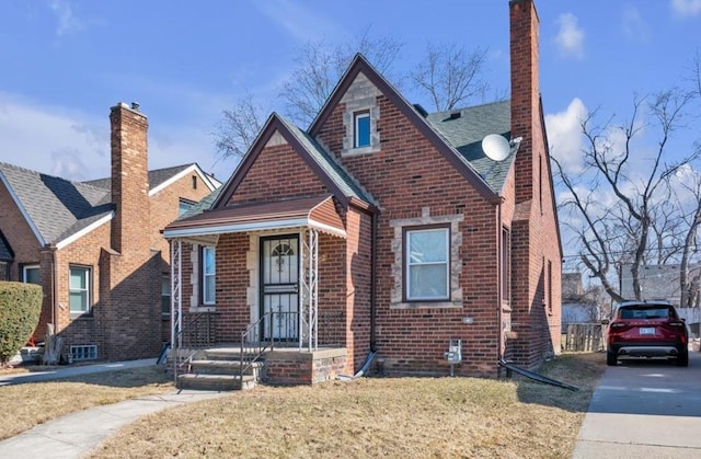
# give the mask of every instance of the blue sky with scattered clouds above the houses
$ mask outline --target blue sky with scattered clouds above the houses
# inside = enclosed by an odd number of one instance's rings
[[[576,117],[625,116],[634,94],[680,84],[701,47],[701,0],[537,0],[549,137],[576,157]],[[369,27],[369,28],[368,28]],[[507,0],[4,0],[0,2],[0,161],[85,180],[110,174],[108,111],[138,101],[151,168],[197,161],[226,180],[211,133],[244,93],[273,100],[310,41],[369,30],[403,43],[486,47],[508,91]],[[412,102],[422,102],[405,94]]]

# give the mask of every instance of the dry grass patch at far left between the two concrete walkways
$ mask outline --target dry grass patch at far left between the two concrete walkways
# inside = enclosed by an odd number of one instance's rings
[[[158,366],[5,386],[0,388],[0,439],[87,408],[173,390]]]

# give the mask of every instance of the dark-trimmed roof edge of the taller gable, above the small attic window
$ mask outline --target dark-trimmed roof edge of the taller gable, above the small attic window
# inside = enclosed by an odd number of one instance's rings
[[[309,127],[309,134],[311,137],[317,137],[324,122],[331,116],[333,110],[338,105],[341,99],[343,99],[344,94],[347,92],[350,84],[355,81],[355,78],[358,73],[365,74],[365,77],[375,84],[380,92],[392,102],[398,110],[414,124],[414,126],[424,135],[424,137],[433,144],[433,146],[438,150],[440,154],[443,154],[457,170],[461,173],[461,175],[474,187],[480,194],[482,194],[486,199],[492,202],[497,202],[498,190],[493,188],[485,179],[480,175],[480,173],[474,169],[468,158],[458,151],[457,147],[453,146],[448,139],[430,123],[426,119],[412,104],[410,104],[402,94],[399,93],[392,87],[392,84],[384,79],[367,59],[357,54],[348,69],[343,74],[336,88],[333,90],[331,96],[326,100],[326,103],[317,115],[317,118],[312,122]],[[509,116],[510,123],[510,116]],[[507,126],[506,131],[509,130]],[[495,134],[495,133],[487,133]],[[481,140],[481,139],[480,139]],[[491,160],[490,160],[491,161]]]

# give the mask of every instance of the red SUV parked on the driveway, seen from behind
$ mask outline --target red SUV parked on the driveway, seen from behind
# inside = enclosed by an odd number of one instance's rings
[[[607,329],[607,365],[619,357],[675,357],[689,366],[687,324],[667,301],[624,301]]]

